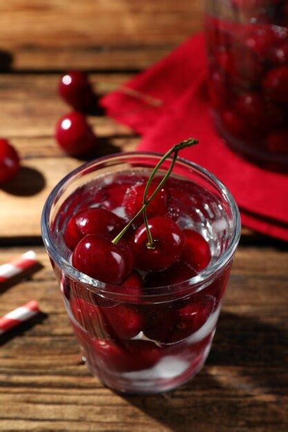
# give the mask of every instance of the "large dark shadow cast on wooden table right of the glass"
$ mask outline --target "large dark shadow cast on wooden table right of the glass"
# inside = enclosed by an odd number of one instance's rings
[[[198,431],[198,428],[203,431],[204,426],[207,426],[207,431],[234,430],[230,426],[243,421],[249,404],[251,407],[256,404],[266,418],[274,419],[275,422],[278,415],[280,422],[284,411],[276,414],[269,397],[267,400],[262,397],[255,401],[253,395],[255,392],[263,396],[267,393],[285,395],[288,386],[285,381],[287,336],[287,331],[282,328],[223,312],[206,362],[208,367],[204,367],[193,380],[171,393],[123,397],[174,432]],[[209,366],[239,366],[240,375],[236,375],[235,381],[229,371],[223,377],[211,375]],[[261,369],[264,366],[271,368],[267,374]],[[252,412],[251,408],[251,416]],[[222,416],[226,422],[229,420],[229,425],[226,424],[223,429],[217,424]],[[253,418],[250,421],[249,428],[243,430],[253,429]]]

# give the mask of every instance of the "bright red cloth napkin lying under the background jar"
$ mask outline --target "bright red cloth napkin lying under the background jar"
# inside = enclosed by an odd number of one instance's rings
[[[288,175],[255,166],[233,153],[215,131],[206,91],[204,37],[170,55],[102,99],[108,115],[144,135],[138,150],[163,153],[187,137],[182,150],[219,177],[236,198],[242,224],[288,241]]]

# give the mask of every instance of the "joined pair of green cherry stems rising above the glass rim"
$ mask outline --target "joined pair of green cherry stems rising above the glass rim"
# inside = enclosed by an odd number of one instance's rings
[[[146,215],[146,207],[152,201],[152,199],[155,197],[155,195],[159,192],[159,190],[162,188],[162,186],[164,185],[164,183],[166,183],[169,175],[171,174],[171,172],[173,170],[173,166],[175,165],[178,152],[180,150],[182,150],[183,148],[195,146],[195,144],[198,144],[198,139],[194,139],[194,138],[185,139],[184,141],[181,141],[180,143],[175,144],[173,147],[170,148],[170,150],[168,150],[165,153],[165,155],[162,156],[162,158],[157,163],[157,165],[155,166],[155,168],[153,168],[153,171],[152,171],[150,177],[148,178],[148,181],[147,181],[147,184],[146,184],[146,188],[144,190],[143,206],[140,208],[139,211],[137,211],[136,215],[133,216],[133,218],[128,222],[128,224],[126,226],[124,226],[124,228],[122,229],[122,231],[120,231],[120,233],[115,237],[115,239],[112,240],[113,244],[117,244],[119,242],[119,240],[122,239],[122,237],[124,236],[124,234],[128,231],[128,229],[131,227],[131,225],[133,224],[133,222],[135,221],[135,219],[137,219],[137,217],[139,217],[142,213],[144,213],[144,221],[145,221],[145,218],[146,218],[145,225],[146,225],[146,230],[147,230],[147,236],[149,235],[149,233],[150,233],[150,236],[151,236],[151,239],[149,239],[149,237],[148,237],[147,247],[151,247],[151,245],[152,245],[152,248],[155,247],[154,244],[153,244],[153,238],[152,238],[152,235],[151,235],[151,231],[150,231],[150,228],[148,226],[148,219],[147,219],[147,215]],[[147,199],[148,188],[151,186],[151,182],[152,182],[153,178],[155,177],[155,175],[157,173],[157,170],[159,170],[159,168],[163,164],[163,162],[172,153],[174,153],[174,155],[173,155],[173,159],[172,159],[172,162],[171,162],[171,166],[169,167],[169,170],[166,172],[166,175],[164,175],[164,177],[160,181],[160,184],[158,184],[157,188],[155,188],[155,190],[151,194],[151,196]]]

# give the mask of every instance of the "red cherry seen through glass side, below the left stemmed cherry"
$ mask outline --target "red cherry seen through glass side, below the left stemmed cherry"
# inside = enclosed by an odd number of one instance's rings
[[[106,320],[119,339],[131,339],[143,328],[143,318],[131,306],[118,304],[113,308],[105,309]]]

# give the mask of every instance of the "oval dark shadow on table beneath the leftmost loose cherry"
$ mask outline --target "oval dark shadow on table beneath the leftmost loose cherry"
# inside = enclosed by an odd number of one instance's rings
[[[19,173],[1,184],[0,188],[11,195],[29,197],[41,192],[45,185],[45,177],[40,171],[35,168],[28,168],[28,166],[21,166]]]

